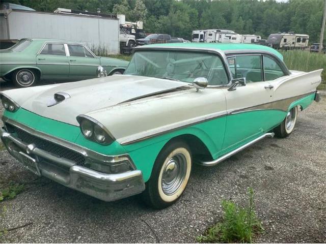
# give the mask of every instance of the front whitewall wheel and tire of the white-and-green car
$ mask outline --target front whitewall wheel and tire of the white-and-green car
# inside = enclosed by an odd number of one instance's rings
[[[182,141],[167,144],[157,156],[143,199],[153,208],[172,205],[184,192],[192,169],[192,155]]]

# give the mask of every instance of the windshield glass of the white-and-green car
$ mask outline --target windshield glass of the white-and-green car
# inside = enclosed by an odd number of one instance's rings
[[[219,56],[189,51],[137,51],[124,74],[176,79],[188,83],[197,77],[205,77],[209,85],[229,82]]]

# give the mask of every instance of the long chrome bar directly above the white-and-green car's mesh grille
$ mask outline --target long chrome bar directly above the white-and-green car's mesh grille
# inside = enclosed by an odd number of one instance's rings
[[[97,153],[96,151],[93,151],[91,149],[88,149],[84,146],[80,146],[80,145],[77,145],[73,142],[70,142],[70,141],[67,141],[65,139],[61,139],[61,138],[58,138],[58,137],[55,137],[55,136],[51,136],[51,135],[48,135],[44,132],[41,132],[41,131],[38,131],[36,129],[33,129],[29,126],[26,126],[26,125],[23,125],[21,123],[19,123],[18,121],[16,120],[13,120],[13,119],[10,119],[6,116],[3,116],[2,117],[2,120],[4,121],[4,124],[5,123],[8,123],[12,126],[15,126],[27,133],[30,133],[36,137],[39,137],[41,139],[44,139],[44,140],[47,140],[51,143],[55,143],[55,144],[58,144],[60,146],[63,146],[63,147],[66,147],[70,150],[73,150],[75,151],[76,153],[79,153],[81,155],[83,155],[85,158],[87,159],[90,159],[90,160],[97,160],[97,161],[100,161],[102,163],[117,163],[117,162],[121,162],[121,161],[129,161],[130,162],[130,165],[135,169],[135,165],[132,161],[132,159],[130,158],[130,156],[128,154],[123,154],[123,155],[115,155],[115,156],[111,156],[111,155],[104,155],[104,154],[101,154],[101,153]]]

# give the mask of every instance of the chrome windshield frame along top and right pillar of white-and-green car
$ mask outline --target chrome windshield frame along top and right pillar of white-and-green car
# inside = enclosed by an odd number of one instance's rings
[[[204,52],[204,53],[213,53],[213,54],[218,54],[218,56],[221,58],[222,60],[222,64],[224,66],[224,69],[226,71],[226,75],[228,76],[229,79],[229,83],[224,84],[224,85],[207,85],[207,88],[218,88],[218,87],[227,87],[230,86],[232,84],[232,73],[231,70],[227,64],[227,59],[226,59],[226,55],[225,53],[220,50],[220,49],[215,49],[215,48],[198,48],[198,47],[164,47],[164,46],[160,46],[160,47],[146,47],[146,45],[144,46],[138,46],[135,47],[133,52],[137,52],[140,50],[184,50],[184,51],[197,51],[197,52]],[[187,82],[185,82],[187,83]]]

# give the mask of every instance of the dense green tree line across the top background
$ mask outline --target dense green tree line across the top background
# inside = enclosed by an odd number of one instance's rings
[[[324,0],[8,0],[52,12],[57,8],[125,14],[144,21],[147,33],[164,33],[191,40],[194,29],[226,28],[267,38],[278,32],[308,34],[319,42]]]

